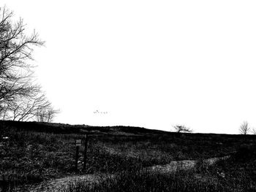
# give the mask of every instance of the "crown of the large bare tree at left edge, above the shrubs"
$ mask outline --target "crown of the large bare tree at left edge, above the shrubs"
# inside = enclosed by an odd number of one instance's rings
[[[23,20],[13,22],[12,17],[13,12],[6,7],[0,8],[1,118],[7,118],[7,111],[19,106],[19,99],[34,99],[34,93],[40,92],[39,85],[32,81],[33,66],[26,61],[33,60],[33,47],[44,45],[44,42],[35,32],[26,36]]]

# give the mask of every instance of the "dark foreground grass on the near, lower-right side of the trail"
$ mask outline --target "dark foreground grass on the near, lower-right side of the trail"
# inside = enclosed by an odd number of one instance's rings
[[[256,147],[244,148],[230,158],[210,165],[200,159],[194,169],[175,173],[145,172],[143,169],[119,172],[92,185],[83,180],[69,183],[64,192],[81,191],[256,191]],[[250,154],[250,155],[249,155]]]

